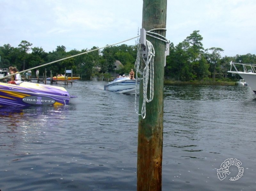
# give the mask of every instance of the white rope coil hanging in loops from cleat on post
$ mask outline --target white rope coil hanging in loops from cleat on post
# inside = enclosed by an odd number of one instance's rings
[[[155,49],[150,41],[147,40],[147,59],[145,60],[142,56],[142,50],[141,45],[138,44],[137,49],[137,59],[135,62],[135,68],[136,68],[136,88],[135,88],[135,111],[138,115],[141,115],[143,119],[146,117],[146,102],[151,102],[154,98],[154,57],[155,57]],[[145,67],[142,70],[140,61],[143,61],[145,63]],[[138,77],[138,74],[142,75],[143,79],[143,102],[141,106],[140,113],[137,112],[136,109],[136,94],[137,94],[137,80],[140,80]],[[147,89],[148,89],[148,82],[150,82],[150,97],[147,97]]]

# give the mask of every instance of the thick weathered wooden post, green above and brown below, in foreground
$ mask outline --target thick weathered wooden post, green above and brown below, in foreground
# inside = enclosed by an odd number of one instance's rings
[[[167,0],[143,0],[142,28],[166,36]],[[163,88],[166,43],[147,36],[155,49],[154,98],[146,104],[146,118],[139,116],[137,150],[137,190],[162,190],[163,153]],[[149,90],[149,88],[148,88]],[[149,94],[147,92],[147,94]],[[140,103],[143,102],[143,82],[140,80]]]

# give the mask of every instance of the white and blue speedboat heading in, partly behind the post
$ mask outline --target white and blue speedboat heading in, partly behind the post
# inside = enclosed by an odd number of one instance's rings
[[[137,88],[137,90],[136,90]],[[116,78],[115,80],[104,85],[104,90],[111,92],[124,93],[124,94],[139,94],[140,81],[131,80],[129,77]]]

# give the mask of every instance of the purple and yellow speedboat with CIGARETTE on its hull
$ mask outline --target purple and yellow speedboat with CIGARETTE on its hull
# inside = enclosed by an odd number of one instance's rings
[[[68,105],[73,97],[63,87],[31,82],[20,85],[0,82],[0,106]]]

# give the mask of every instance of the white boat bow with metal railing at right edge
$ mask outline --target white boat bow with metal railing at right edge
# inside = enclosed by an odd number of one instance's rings
[[[242,64],[231,61],[230,70],[228,72],[238,74],[256,94],[256,64]]]

